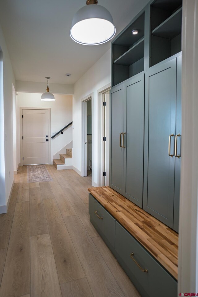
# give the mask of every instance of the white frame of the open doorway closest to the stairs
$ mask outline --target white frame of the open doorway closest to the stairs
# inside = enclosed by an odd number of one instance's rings
[[[89,94],[88,96],[81,99],[81,174],[82,176],[87,176],[87,145],[84,145],[85,136],[87,135],[87,101],[92,101],[92,184],[93,184],[93,169],[94,169],[94,162],[93,162],[93,93]]]

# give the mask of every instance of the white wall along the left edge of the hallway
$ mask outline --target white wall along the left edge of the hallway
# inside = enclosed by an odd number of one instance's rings
[[[12,127],[12,85],[15,87],[15,77],[12,70],[11,60],[8,54],[6,41],[2,32],[2,27],[0,25],[0,48],[2,49],[3,58],[3,98],[0,96],[1,109],[3,108],[3,113],[1,110],[1,130],[4,133],[1,134],[1,146],[4,146],[4,152],[1,150],[0,156],[0,212],[2,212],[2,207],[7,204],[10,196],[11,187],[14,181],[14,170],[13,170],[13,127]],[[2,91],[2,84],[1,84]],[[2,102],[3,99],[3,102]],[[3,116],[4,114],[4,116]],[[2,125],[3,124],[3,125]],[[2,131],[1,131],[2,132]],[[4,154],[4,155],[3,155]],[[3,165],[3,162],[5,163]],[[10,171],[10,177],[9,177]]]

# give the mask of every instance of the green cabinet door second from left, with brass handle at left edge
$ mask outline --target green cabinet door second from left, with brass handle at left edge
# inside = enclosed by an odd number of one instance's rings
[[[144,163],[144,74],[124,88],[123,196],[142,208]]]

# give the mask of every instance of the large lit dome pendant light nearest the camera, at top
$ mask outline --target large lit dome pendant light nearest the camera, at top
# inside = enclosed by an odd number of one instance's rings
[[[97,3],[97,0],[87,0],[87,5],[75,14],[70,30],[70,36],[75,42],[98,45],[114,37],[116,29],[111,14]]]

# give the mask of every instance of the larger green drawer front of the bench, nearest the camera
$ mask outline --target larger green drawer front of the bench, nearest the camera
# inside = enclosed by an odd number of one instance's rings
[[[115,223],[115,250],[124,263],[123,266],[126,265],[129,269],[131,281],[134,280],[136,285],[136,280],[138,280],[141,284],[142,290],[141,287],[138,287],[138,290],[142,297],[177,296],[177,281],[117,221]],[[143,272],[138,265],[143,270],[147,269],[148,272]]]

